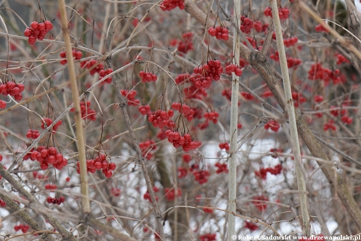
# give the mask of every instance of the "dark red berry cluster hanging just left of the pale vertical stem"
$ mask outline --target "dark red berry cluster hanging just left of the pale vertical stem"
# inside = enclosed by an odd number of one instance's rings
[[[220,80],[220,74],[223,73],[223,67],[219,60],[209,60],[207,64],[193,69],[195,74],[201,74],[201,77],[196,78],[197,88],[208,88],[212,84],[212,80]]]

